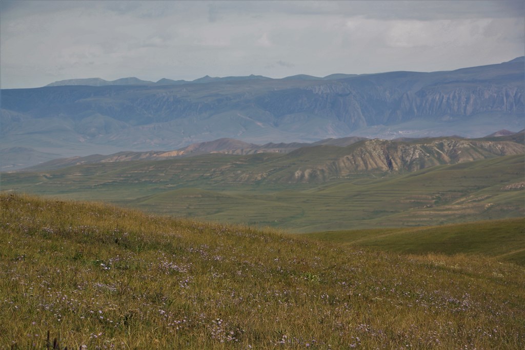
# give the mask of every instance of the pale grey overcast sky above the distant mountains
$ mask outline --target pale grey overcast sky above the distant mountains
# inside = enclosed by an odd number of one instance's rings
[[[0,85],[453,70],[524,33],[524,0],[1,0]]]

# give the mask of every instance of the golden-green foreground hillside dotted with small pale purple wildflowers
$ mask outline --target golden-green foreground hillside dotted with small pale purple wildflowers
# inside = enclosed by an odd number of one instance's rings
[[[5,194],[0,239],[3,348],[525,346],[525,269],[482,256]]]

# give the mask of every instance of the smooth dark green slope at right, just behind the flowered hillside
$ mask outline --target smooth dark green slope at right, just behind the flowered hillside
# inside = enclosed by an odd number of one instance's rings
[[[435,227],[316,232],[307,236],[391,252],[483,254],[525,265],[525,218]]]

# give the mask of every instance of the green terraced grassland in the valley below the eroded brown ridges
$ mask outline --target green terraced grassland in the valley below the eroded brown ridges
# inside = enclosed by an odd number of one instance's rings
[[[296,162],[316,160],[298,155]],[[523,182],[524,161],[523,155],[501,156],[412,173],[360,173],[326,183],[288,184],[242,181],[270,170],[289,172],[289,159],[286,163],[280,155],[216,154],[2,174],[2,190],[293,232],[414,227],[523,217],[525,189],[508,188]]]

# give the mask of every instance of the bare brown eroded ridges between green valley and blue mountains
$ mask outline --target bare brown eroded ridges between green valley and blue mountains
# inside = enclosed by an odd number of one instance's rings
[[[464,163],[502,155],[525,152],[525,133],[507,136],[487,136],[477,140],[459,137],[435,139],[367,140],[362,137],[327,139],[314,143],[249,144],[235,139],[219,139],[191,144],[174,151],[119,152],[107,156],[89,155],[56,159],[27,167],[24,171],[48,171],[62,167],[144,160],[164,160],[201,154],[249,155],[258,153],[290,153],[282,157],[279,171],[262,168],[261,172],[236,179],[240,182],[325,182],[365,172],[406,172],[439,164]],[[246,158],[249,162],[249,157]],[[299,165],[298,165],[299,164]],[[297,165],[297,166],[296,166]],[[274,167],[272,164],[270,167]]]

